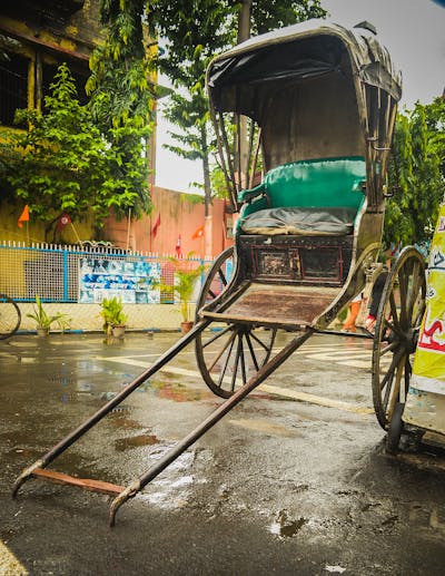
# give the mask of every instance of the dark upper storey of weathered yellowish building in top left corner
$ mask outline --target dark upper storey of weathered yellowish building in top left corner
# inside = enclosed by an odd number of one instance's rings
[[[55,72],[67,62],[80,101],[88,60],[100,41],[98,0],[14,0],[0,8],[0,124],[17,108],[42,109]]]

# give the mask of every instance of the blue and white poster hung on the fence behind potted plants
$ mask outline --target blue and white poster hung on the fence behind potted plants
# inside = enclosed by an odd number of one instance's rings
[[[119,297],[126,304],[159,304],[160,264],[88,257],[79,260],[79,302],[100,304]]]

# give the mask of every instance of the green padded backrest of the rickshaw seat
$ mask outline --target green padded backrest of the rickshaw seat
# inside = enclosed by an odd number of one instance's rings
[[[365,158],[352,156],[283,164],[266,174],[264,184],[274,208],[344,206],[358,211],[364,180]]]

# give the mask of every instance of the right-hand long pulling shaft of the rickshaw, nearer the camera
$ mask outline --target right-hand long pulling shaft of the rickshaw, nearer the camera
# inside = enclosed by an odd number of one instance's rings
[[[230,398],[222,402],[206,420],[204,420],[195,430],[180,440],[170,451],[168,451],[155,466],[148,469],[140,478],[129,485],[119,496],[117,496],[110,506],[109,524],[115,526],[116,512],[129,498],[134,498],[148,482],[156,478],[167,466],[176,460],[182,452],[187,450],[196,440],[198,440],[207,430],[215,426],[221,418],[235,408],[246,396],[268,378],[281,363],[287,360],[312,334],[314,329],[308,328],[306,332],[294,338],[283,350],[280,350],[271,360],[269,360],[246,384],[237,390]]]

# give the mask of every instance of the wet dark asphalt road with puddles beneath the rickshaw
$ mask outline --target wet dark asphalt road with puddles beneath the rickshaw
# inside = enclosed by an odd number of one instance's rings
[[[128,501],[112,529],[105,495],[31,479],[12,500],[23,468],[177,338],[0,342],[0,574],[445,573],[445,457],[386,455],[370,342],[352,338],[313,336]],[[220,402],[188,348],[51,469],[126,486]]]

